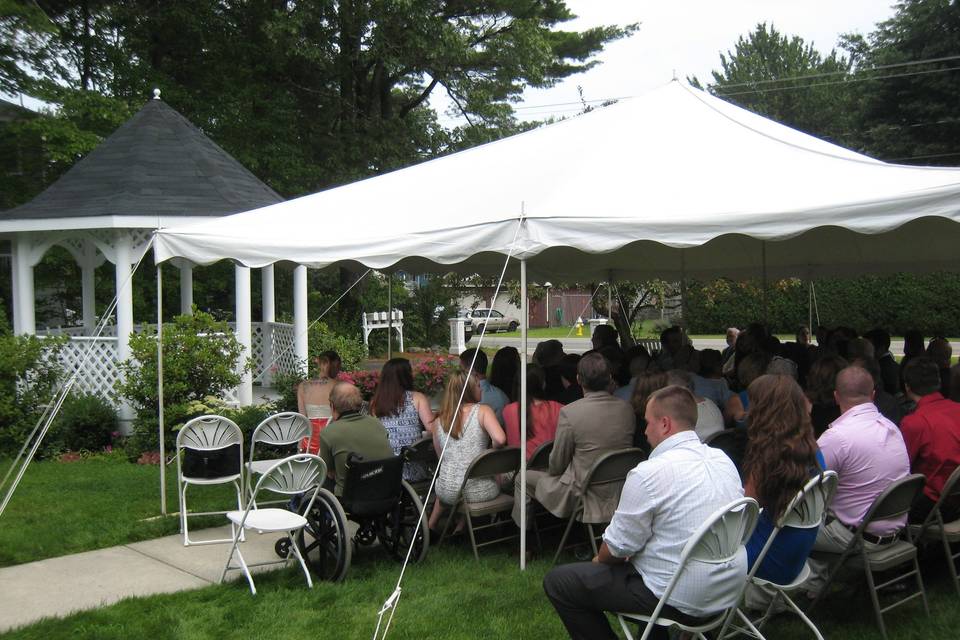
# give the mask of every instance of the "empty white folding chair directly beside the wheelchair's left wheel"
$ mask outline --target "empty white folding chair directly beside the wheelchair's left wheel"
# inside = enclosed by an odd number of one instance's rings
[[[227,571],[240,569],[247,576],[247,582],[250,583],[250,592],[257,595],[257,587],[253,584],[253,576],[250,574],[250,567],[262,567],[272,564],[288,564],[296,556],[300,562],[300,568],[303,569],[303,575],[307,578],[307,586],[313,588],[313,580],[310,577],[310,570],[307,569],[307,563],[300,552],[300,546],[293,542],[296,533],[303,529],[307,524],[307,519],[299,513],[288,511],[287,509],[277,509],[268,507],[259,509],[256,507],[256,496],[261,491],[270,491],[287,496],[305,494],[309,492],[310,499],[305,502],[304,513],[309,513],[313,502],[317,498],[317,492],[320,491],[320,485],[327,475],[327,465],[319,456],[310,453],[298,453],[283,458],[273,463],[267,469],[260,480],[257,481],[253,490],[253,500],[247,504],[247,508],[242,511],[230,511],[227,518],[230,520],[233,537],[230,547],[230,555],[227,556],[227,563],[223,567],[223,573],[220,574],[220,582],[223,582],[227,576]],[[332,496],[331,496],[332,497]],[[290,553],[283,560],[270,560],[267,562],[255,562],[247,564],[240,551],[241,535],[245,529],[254,529],[258,533],[276,533],[283,531],[290,537]],[[240,564],[233,565],[233,557],[236,555]]]

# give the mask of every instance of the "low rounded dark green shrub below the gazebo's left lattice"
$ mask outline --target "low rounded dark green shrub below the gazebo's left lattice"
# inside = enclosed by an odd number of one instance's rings
[[[117,412],[100,396],[70,394],[47,434],[47,439],[65,451],[102,451],[113,444]]]

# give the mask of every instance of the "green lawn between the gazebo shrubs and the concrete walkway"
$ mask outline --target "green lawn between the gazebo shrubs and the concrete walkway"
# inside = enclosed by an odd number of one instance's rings
[[[0,461],[0,478],[9,464]],[[31,464],[0,516],[0,566],[176,533],[177,518],[152,519],[160,514],[159,474],[156,466],[106,457]],[[176,474],[168,467],[170,513],[178,510]],[[191,487],[187,494],[191,511],[230,508],[231,500],[225,486]],[[223,522],[211,516],[191,519],[190,526]]]

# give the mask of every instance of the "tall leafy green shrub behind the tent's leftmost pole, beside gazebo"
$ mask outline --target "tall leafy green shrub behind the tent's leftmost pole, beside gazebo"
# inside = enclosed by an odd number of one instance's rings
[[[131,358],[121,363],[125,374],[117,392],[137,411],[128,452],[132,457],[159,445],[157,429],[157,337],[130,336]],[[235,370],[243,349],[225,322],[202,311],[177,316],[163,332],[163,401],[166,446],[177,425],[202,415],[190,403],[217,398],[240,383]],[[251,364],[246,362],[246,369]]]

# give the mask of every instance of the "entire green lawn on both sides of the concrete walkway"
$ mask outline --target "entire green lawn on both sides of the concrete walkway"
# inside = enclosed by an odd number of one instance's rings
[[[156,467],[110,460],[42,462],[27,473],[10,509],[0,519],[0,563],[111,546],[176,531],[175,519],[143,521],[157,513]],[[171,483],[172,488],[172,483]],[[202,499],[210,507],[225,493]],[[175,509],[170,491],[171,510]],[[570,560],[572,558],[568,558]],[[923,575],[932,617],[911,603],[887,616],[891,638],[952,638],[960,628],[960,602],[933,550]],[[130,599],[62,620],[48,620],[2,635],[4,639],[48,638],[281,638],[315,634],[366,639],[376,613],[392,592],[399,564],[376,550],[354,556],[343,584],[320,583],[309,591],[298,569],[257,579],[252,597],[244,582],[180,594]],[[469,547],[454,542],[431,549],[412,566],[391,638],[561,638],[563,629],[543,595],[548,560],[517,568],[516,551],[484,550],[474,561]],[[862,577],[857,576],[860,581]],[[878,637],[861,582],[841,587],[815,619],[828,638]],[[38,594],[38,597],[43,597]],[[790,618],[778,619],[768,638],[806,640],[810,634]]]

